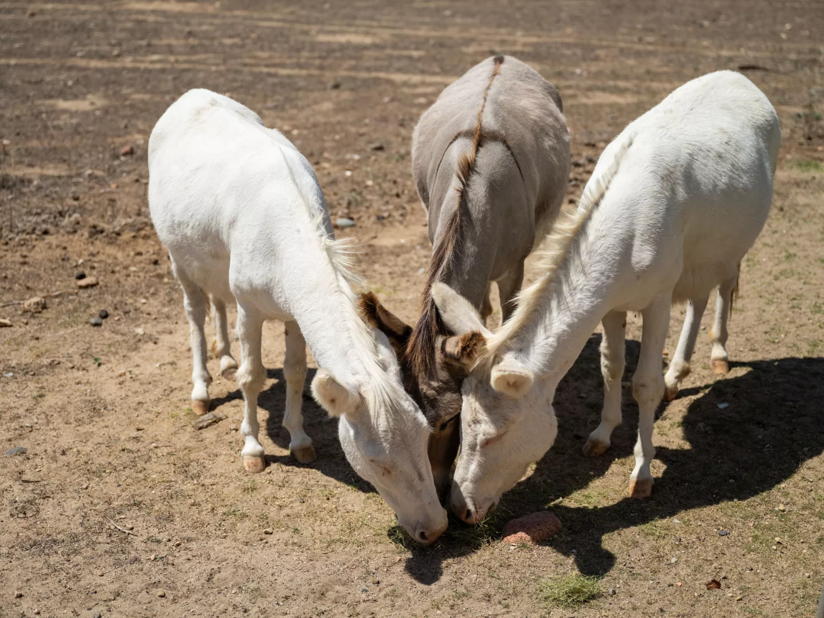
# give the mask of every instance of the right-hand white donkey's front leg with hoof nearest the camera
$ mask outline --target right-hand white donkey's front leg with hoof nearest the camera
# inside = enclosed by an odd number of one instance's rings
[[[665,385],[662,352],[667,342],[670,298],[651,302],[644,311],[641,330],[641,354],[632,378],[632,394],[638,402],[638,442],[635,443],[635,469],[630,475],[630,496],[648,498],[653,493],[653,474],[649,464],[655,456],[653,424],[655,410],[661,402]]]

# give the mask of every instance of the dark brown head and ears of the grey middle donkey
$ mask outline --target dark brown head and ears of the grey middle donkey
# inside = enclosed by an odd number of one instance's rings
[[[404,388],[432,429],[429,463],[438,493],[445,493],[461,439],[461,384],[485,339],[477,332],[447,335],[434,303],[428,300],[424,306],[413,329],[371,292],[362,294],[358,302],[363,320],[389,339],[400,363]]]

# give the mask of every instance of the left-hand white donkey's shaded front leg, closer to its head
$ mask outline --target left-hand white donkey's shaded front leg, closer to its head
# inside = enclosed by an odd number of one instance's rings
[[[286,378],[286,410],[283,427],[289,432],[289,451],[301,463],[315,461],[311,438],[303,431],[303,383],[307,377],[307,342],[297,322],[283,325],[286,338],[286,356],[283,358],[283,377]]]

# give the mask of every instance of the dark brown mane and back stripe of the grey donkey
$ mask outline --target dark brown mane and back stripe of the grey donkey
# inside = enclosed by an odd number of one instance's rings
[[[472,146],[469,151],[461,153],[461,157],[458,157],[455,172],[460,183],[460,186],[456,188],[457,206],[455,212],[452,214],[452,218],[449,219],[446,227],[442,230],[438,244],[433,248],[432,259],[429,260],[424,293],[421,297],[420,317],[414,325],[409,344],[406,348],[405,361],[408,363],[414,375],[419,378],[432,375],[435,368],[435,339],[438,335],[448,334],[447,328],[441,320],[438,308],[435,307],[435,302],[429,290],[432,288],[433,283],[440,279],[447,265],[452,262],[452,260],[456,260],[460,255],[461,232],[468,214],[466,212],[466,185],[469,182],[472,172],[475,171],[475,155],[478,152],[478,147],[484,139],[494,139],[495,141],[504,143],[509,149],[508,144],[503,139],[503,135],[500,135],[497,131],[487,132],[481,129],[486,97],[489,95],[489,89],[492,87],[495,76],[500,72],[503,56],[495,56],[494,63],[494,68],[489,75],[489,82],[486,85],[484,96],[480,103],[480,109],[475,119],[475,127],[469,131],[456,133],[455,137],[452,138],[452,141],[449,143],[449,146],[452,146],[452,143],[458,138],[472,138]],[[511,152],[512,150],[510,149],[510,153]],[[518,171],[520,170],[521,168],[518,166]]]

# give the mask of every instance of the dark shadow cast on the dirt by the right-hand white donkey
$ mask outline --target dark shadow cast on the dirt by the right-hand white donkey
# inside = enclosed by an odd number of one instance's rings
[[[695,397],[682,423],[690,447],[658,447],[656,458],[667,469],[655,480],[652,498],[626,497],[602,508],[550,506],[555,499],[574,494],[605,475],[616,459],[633,454],[638,406],[630,388],[624,389],[624,423],[613,433],[610,450],[595,458],[581,454],[601,414],[600,341],[600,335],[589,339],[559,385],[555,445],[527,480],[503,495],[499,507],[507,511],[503,521],[550,508],[563,522],[564,531],[548,544],[563,555],[574,556],[582,574],[602,576],[615,566],[616,556],[603,546],[605,535],[674,517],[686,509],[750,499],[787,480],[803,461],[824,452],[820,412],[824,358],[731,363],[731,368],[748,371],[679,394]],[[638,341],[627,341],[625,381],[631,380],[639,349]],[[700,358],[695,362],[700,363]],[[728,406],[719,409],[722,403]],[[656,417],[666,414],[667,404],[662,403]],[[630,463],[622,491],[629,486],[631,471]],[[461,526],[450,522],[451,528],[455,525]],[[433,583],[442,574],[444,560],[474,549],[450,539],[447,530],[444,541],[434,549],[413,550],[406,570],[419,582]]]

